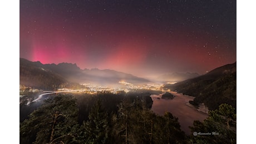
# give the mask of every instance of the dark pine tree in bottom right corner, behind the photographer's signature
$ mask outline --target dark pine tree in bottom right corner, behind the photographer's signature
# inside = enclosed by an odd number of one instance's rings
[[[209,111],[209,117],[203,122],[194,121],[190,127],[192,132],[207,133],[209,135],[191,136],[190,141],[196,143],[236,143],[237,115],[235,108],[228,104],[221,104],[218,110]]]

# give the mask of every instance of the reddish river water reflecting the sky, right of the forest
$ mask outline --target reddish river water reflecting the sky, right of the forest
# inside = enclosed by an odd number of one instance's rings
[[[166,111],[171,112],[171,114],[178,117],[181,130],[187,135],[190,135],[191,131],[189,126],[193,126],[195,120],[203,121],[208,117],[208,114],[188,105],[188,102],[193,100],[194,97],[178,94],[176,92],[170,93],[175,96],[174,99],[159,99],[161,95],[151,95],[153,100],[151,110],[158,115],[164,115]]]

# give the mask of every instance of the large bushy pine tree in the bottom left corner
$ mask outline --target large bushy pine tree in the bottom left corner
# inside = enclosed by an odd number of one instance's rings
[[[20,142],[72,142],[78,125],[77,112],[76,100],[72,96],[58,95],[46,100],[20,125]]]

